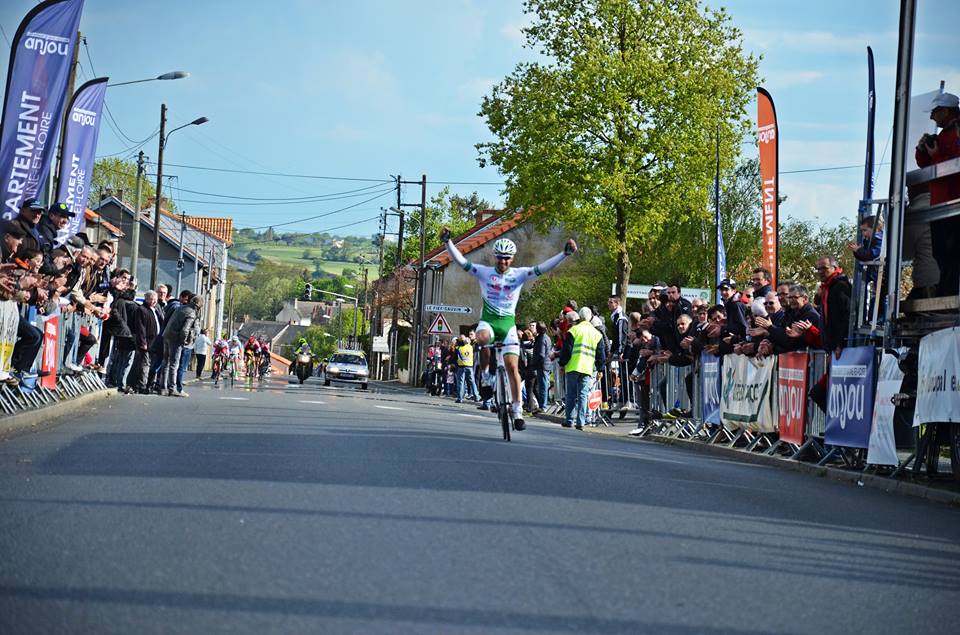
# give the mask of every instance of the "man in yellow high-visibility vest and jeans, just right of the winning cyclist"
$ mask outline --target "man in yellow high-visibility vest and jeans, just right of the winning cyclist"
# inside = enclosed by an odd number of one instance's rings
[[[581,310],[585,313],[589,311],[586,307]],[[566,373],[566,417],[563,427],[576,424],[577,430],[583,430],[593,378],[603,370],[603,364],[607,361],[606,349],[603,335],[590,324],[589,318],[573,310],[564,313],[564,318],[571,326],[563,338],[559,359]]]

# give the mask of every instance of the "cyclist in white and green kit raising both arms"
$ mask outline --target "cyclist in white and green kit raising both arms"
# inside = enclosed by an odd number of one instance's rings
[[[497,259],[495,267],[477,265],[466,258],[450,240],[450,230],[446,227],[440,232],[440,239],[446,244],[447,251],[464,271],[480,281],[480,295],[483,299],[483,311],[477,324],[477,343],[481,346],[499,342],[503,347],[503,365],[510,378],[513,397],[513,425],[523,430],[523,410],[520,407],[520,340],[517,337],[517,302],[523,283],[533,277],[547,273],[568,256],[577,251],[577,243],[571,238],[563,251],[536,267],[513,267],[513,257],[517,255],[517,246],[508,238],[500,238],[493,243],[493,255]],[[480,350],[480,367],[488,368],[490,349]]]

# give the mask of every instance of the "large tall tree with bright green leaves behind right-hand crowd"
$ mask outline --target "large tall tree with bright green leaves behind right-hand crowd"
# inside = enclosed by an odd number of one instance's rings
[[[626,293],[643,245],[677,219],[706,219],[721,162],[751,128],[757,60],[722,9],[695,0],[527,0],[519,64],[485,97],[494,140],[480,163],[506,177],[508,206],[562,223],[615,254]]]

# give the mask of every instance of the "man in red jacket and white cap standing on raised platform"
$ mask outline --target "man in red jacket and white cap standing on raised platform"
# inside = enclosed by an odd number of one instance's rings
[[[960,99],[941,93],[930,104],[930,119],[940,132],[925,134],[917,144],[917,165],[928,165],[960,157]],[[929,183],[930,205],[960,199],[960,174],[951,174]],[[960,218],[944,218],[930,224],[933,257],[940,267],[938,295],[956,295],[960,286]]]

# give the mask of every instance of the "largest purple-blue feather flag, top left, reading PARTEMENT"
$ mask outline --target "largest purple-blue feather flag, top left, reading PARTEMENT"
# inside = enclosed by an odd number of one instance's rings
[[[3,217],[37,197],[57,151],[83,0],[46,0],[27,13],[13,38],[0,120]]]

